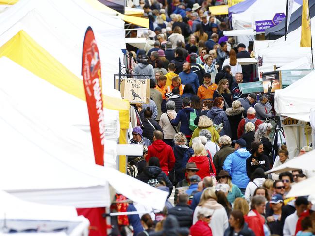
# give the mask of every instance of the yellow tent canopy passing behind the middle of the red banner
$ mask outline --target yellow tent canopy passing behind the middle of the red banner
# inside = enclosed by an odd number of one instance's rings
[[[25,31],[19,31],[0,47],[6,56],[38,77],[85,101],[83,81],[39,46]],[[129,127],[129,101],[103,96],[104,107],[118,110],[120,128]]]

